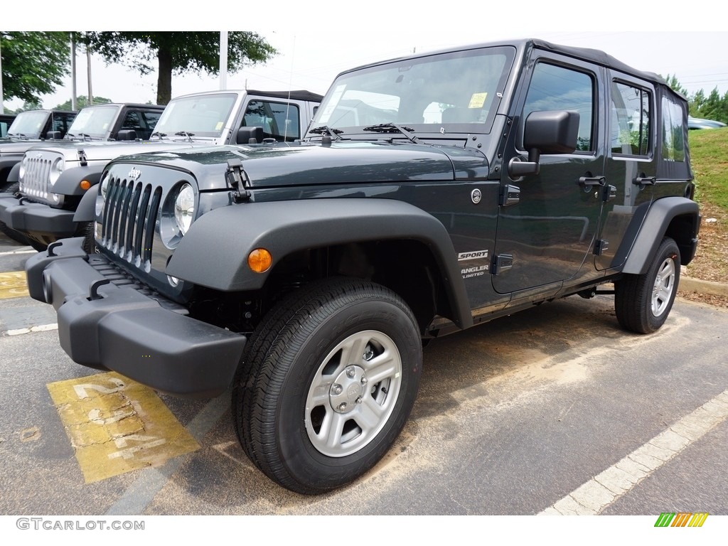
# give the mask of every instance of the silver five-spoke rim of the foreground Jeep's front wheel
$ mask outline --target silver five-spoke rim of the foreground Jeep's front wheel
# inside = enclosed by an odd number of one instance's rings
[[[376,438],[395,408],[402,359],[379,331],[357,332],[325,357],[309,387],[304,423],[320,453],[343,457]]]

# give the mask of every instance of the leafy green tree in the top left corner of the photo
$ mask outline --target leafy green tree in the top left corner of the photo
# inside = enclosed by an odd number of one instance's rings
[[[68,74],[68,33],[0,31],[0,54],[4,99],[39,103]]]

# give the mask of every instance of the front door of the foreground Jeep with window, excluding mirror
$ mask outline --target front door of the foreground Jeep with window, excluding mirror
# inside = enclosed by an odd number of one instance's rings
[[[599,135],[606,98],[599,82],[604,69],[553,52],[534,50],[534,55],[523,78],[526,89],[515,103],[518,135],[514,149],[506,150],[505,164],[527,160],[523,123],[532,111],[577,111],[577,149],[542,154],[537,175],[514,180],[504,169],[502,193],[515,187],[520,197],[499,207],[491,276],[499,293],[555,291],[567,279],[593,274],[592,259],[582,266],[590,257],[602,208],[605,144]]]

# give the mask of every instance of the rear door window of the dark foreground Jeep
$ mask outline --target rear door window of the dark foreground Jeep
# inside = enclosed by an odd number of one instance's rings
[[[613,154],[649,154],[650,95],[644,89],[612,82],[610,139]]]

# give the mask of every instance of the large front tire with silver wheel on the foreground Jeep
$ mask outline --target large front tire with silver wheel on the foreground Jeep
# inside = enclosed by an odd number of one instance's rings
[[[248,341],[233,390],[238,438],[291,491],[344,486],[397,438],[421,371],[419,329],[396,293],[360,280],[313,283]]]

